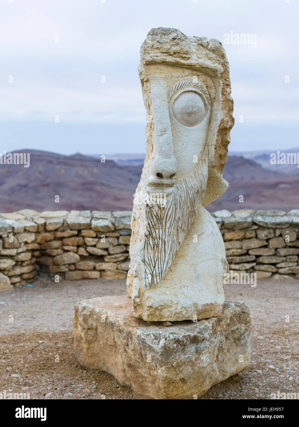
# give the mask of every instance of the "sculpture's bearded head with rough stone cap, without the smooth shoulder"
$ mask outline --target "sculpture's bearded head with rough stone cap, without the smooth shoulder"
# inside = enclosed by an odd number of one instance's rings
[[[139,276],[147,289],[167,273],[198,208],[228,186],[222,170],[233,103],[215,39],[152,29],[140,52],[147,155],[136,194],[148,197],[133,208],[128,286]]]

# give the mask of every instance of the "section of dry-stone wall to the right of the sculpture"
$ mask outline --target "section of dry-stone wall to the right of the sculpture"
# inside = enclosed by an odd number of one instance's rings
[[[226,248],[229,269],[257,278],[299,277],[299,210],[226,210],[212,213]]]

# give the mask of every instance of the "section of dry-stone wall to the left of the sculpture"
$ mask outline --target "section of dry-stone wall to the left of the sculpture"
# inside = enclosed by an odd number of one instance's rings
[[[126,278],[131,211],[0,214],[0,290],[35,276]]]

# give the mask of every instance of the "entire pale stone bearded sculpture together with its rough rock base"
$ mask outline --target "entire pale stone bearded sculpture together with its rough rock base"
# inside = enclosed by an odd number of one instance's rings
[[[131,221],[131,299],[75,305],[75,357],[142,395],[194,399],[250,363],[249,310],[224,303],[224,242],[204,209],[227,187],[229,68],[218,41],[158,28],[142,44],[139,75],[147,156]]]

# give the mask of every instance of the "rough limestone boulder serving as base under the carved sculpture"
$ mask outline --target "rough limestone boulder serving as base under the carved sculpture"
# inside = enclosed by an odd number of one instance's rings
[[[75,358],[120,384],[155,399],[193,399],[250,364],[251,319],[241,301],[220,316],[145,322],[132,316],[131,298],[108,296],[75,305]]]

